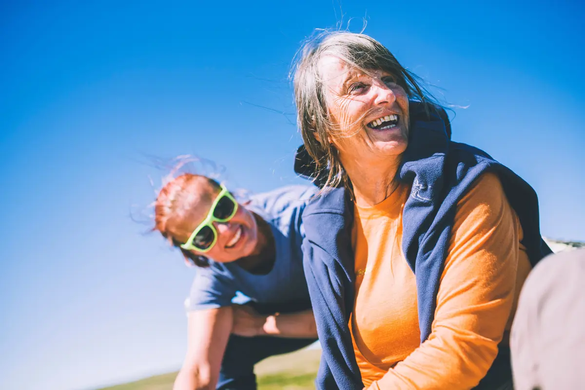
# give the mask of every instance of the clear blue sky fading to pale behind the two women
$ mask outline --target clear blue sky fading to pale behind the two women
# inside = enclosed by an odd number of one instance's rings
[[[546,236],[585,240],[581,2],[46,3],[0,5],[0,388],[179,367],[194,270],[128,217],[160,184],[143,156],[196,154],[252,191],[300,183],[288,70],[341,20],[469,106],[453,138],[534,186]]]

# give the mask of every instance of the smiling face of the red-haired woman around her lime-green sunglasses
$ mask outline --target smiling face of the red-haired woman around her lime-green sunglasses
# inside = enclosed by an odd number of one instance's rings
[[[192,231],[207,217],[215,198],[221,189],[213,189],[204,185],[197,189],[201,191],[194,194],[197,201],[194,202],[194,210],[188,213],[188,221],[185,221],[175,239],[178,242],[187,242]],[[229,263],[252,254],[258,241],[258,226],[252,212],[242,204],[238,204],[238,211],[228,222],[211,222],[218,234],[215,245],[205,253],[191,250],[195,255],[202,255],[219,263]]]

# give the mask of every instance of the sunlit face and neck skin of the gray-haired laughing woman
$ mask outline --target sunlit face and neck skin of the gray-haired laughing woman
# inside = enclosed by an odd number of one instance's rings
[[[329,141],[352,180],[356,201],[380,203],[392,193],[401,155],[408,146],[408,96],[395,76],[373,69],[366,74],[338,57],[321,58],[319,70],[333,129]],[[398,115],[394,128],[375,130],[371,121]]]

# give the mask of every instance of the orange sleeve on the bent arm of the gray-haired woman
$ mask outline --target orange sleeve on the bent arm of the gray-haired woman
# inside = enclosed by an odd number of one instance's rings
[[[519,223],[500,180],[457,204],[429,338],[370,389],[470,389],[493,363],[516,288]]]

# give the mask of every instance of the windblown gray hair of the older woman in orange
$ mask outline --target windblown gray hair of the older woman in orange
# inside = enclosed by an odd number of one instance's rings
[[[351,183],[336,149],[329,143],[329,137],[339,135],[338,130],[343,129],[336,129],[330,120],[324,79],[319,73],[319,62],[327,55],[338,57],[350,67],[366,74],[374,70],[386,71],[395,76],[409,100],[439,105],[423,86],[424,82],[404,68],[383,44],[372,37],[350,32],[324,31],[309,39],[298,51],[293,67],[297,124],[305,148],[316,162],[317,170],[328,170],[325,187],[336,187],[343,183],[351,191]]]

